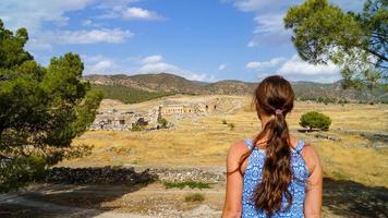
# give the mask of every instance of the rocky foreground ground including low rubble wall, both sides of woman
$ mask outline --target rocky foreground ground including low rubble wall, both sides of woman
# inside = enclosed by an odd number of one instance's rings
[[[46,181],[1,195],[0,217],[213,218],[220,217],[225,197],[221,168],[56,168]],[[166,186],[183,181],[194,186]],[[324,217],[388,217],[388,189],[328,178],[324,183]],[[195,194],[203,198],[187,198]]]

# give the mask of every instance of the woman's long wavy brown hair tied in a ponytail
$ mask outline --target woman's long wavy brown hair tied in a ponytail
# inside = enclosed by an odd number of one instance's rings
[[[288,186],[292,180],[291,144],[286,116],[292,110],[294,93],[291,84],[281,76],[272,75],[264,78],[255,90],[254,102],[257,116],[274,116],[263,131],[254,138],[253,148],[266,137],[266,158],[264,161],[262,182],[257,185],[252,199],[257,209],[268,216],[281,209],[282,197],[292,204],[292,195]],[[252,150],[242,157],[242,162]],[[241,172],[241,170],[240,170]]]

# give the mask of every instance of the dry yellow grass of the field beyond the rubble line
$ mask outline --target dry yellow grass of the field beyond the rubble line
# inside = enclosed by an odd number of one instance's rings
[[[177,97],[175,97],[177,98]],[[181,96],[183,99],[191,97]],[[198,97],[195,97],[198,98]],[[245,107],[234,112],[214,113],[207,117],[184,118],[169,121],[173,130],[154,132],[86,132],[74,145],[94,145],[88,157],[65,160],[60,166],[89,167],[107,165],[135,165],[155,167],[223,166],[229,146],[240,140],[253,137],[259,131],[256,113],[250,109],[248,97],[225,96],[237,99]],[[226,101],[228,101],[226,100]],[[153,101],[154,104],[155,101]],[[141,106],[149,106],[144,102]],[[136,105],[136,107],[141,107]],[[223,106],[227,110],[227,106]],[[230,107],[232,108],[232,107]],[[332,124],[323,134],[340,137],[341,141],[315,138],[312,134],[299,133],[300,116],[310,110],[328,114]],[[228,111],[228,110],[227,110]],[[222,120],[234,123],[233,131]],[[372,142],[359,133],[388,132],[387,105],[324,105],[296,102],[288,118],[291,132],[306,140],[319,153],[325,174],[369,185],[388,186],[388,149],[369,148]],[[349,134],[347,132],[356,132]]]

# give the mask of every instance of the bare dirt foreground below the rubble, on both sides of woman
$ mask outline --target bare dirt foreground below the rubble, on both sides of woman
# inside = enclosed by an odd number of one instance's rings
[[[183,172],[182,172],[183,173]],[[388,190],[348,180],[324,179],[323,217],[388,217]],[[198,194],[201,201],[187,196]],[[162,182],[142,185],[36,184],[0,195],[1,218],[216,218],[225,183],[209,189],[167,189]]]

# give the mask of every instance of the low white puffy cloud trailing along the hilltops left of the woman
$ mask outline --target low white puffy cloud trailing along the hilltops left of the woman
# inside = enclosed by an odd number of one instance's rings
[[[160,55],[148,56],[142,59],[141,65],[136,73],[173,73],[194,81],[215,81],[214,75],[206,73],[194,73],[189,70],[181,69],[178,65],[167,63]]]

